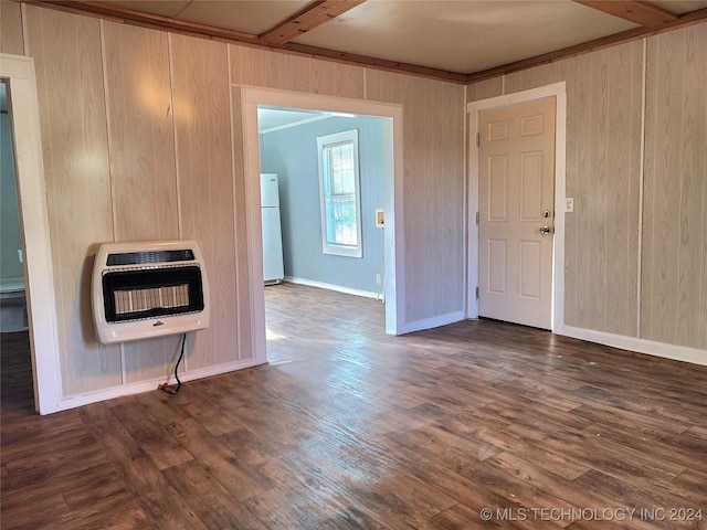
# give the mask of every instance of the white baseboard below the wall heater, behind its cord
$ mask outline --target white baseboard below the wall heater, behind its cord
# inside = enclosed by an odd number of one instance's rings
[[[179,379],[182,383],[187,381],[196,381],[198,379],[221,375],[224,373],[234,372],[236,370],[243,370],[245,368],[255,367],[257,364],[264,364],[264,361],[258,359],[243,359],[241,361],[229,362],[226,364],[218,364],[215,367],[184,372],[183,374],[179,374]],[[99,390],[96,392],[62,396],[56,404],[56,409],[52,410],[51,412],[68,411],[71,409],[76,409],[77,406],[89,405],[92,403],[113,400],[115,398],[141,394],[143,392],[157,390],[158,385],[163,382],[165,378],[156,378],[148,381],[125,384],[122,386],[113,386],[110,389]]]

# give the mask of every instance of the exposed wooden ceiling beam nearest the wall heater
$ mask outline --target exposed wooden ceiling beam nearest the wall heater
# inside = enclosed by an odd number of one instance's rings
[[[279,46],[329,22],[366,0],[318,0],[257,38],[258,44]]]

